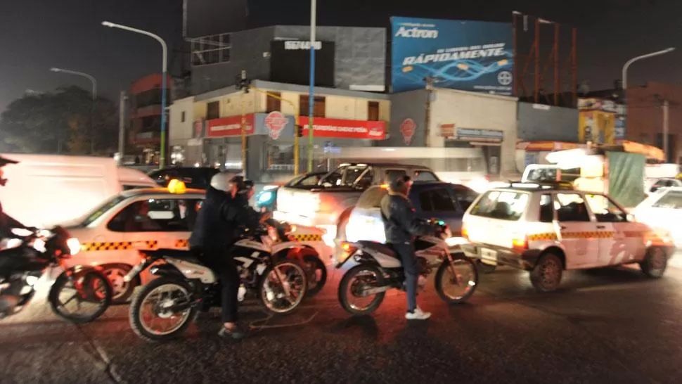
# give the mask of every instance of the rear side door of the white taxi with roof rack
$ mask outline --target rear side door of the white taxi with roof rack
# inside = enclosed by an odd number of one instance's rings
[[[558,236],[566,253],[566,269],[593,267],[598,264],[600,233],[580,193],[556,193]],[[604,228],[604,231],[608,229]]]

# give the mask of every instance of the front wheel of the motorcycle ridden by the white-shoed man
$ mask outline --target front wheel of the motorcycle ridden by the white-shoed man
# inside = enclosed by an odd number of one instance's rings
[[[436,292],[448,304],[465,302],[474,294],[478,285],[476,263],[463,254],[453,254],[452,265],[443,260],[434,280]]]

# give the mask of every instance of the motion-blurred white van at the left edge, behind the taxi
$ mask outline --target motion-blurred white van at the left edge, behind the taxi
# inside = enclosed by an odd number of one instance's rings
[[[50,226],[89,212],[103,200],[130,188],[155,187],[135,169],[117,167],[112,158],[3,153],[19,164],[3,168],[4,211],[29,226]]]

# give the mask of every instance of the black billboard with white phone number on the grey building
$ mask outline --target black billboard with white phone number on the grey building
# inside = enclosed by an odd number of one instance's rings
[[[334,87],[334,41],[315,41],[315,85]],[[310,84],[310,41],[275,40],[270,46],[270,81]]]

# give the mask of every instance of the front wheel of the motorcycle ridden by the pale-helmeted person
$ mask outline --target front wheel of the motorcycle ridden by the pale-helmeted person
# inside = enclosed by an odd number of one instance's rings
[[[297,262],[277,262],[263,271],[259,283],[260,301],[269,312],[286,314],[301,304],[307,287],[306,272]]]

